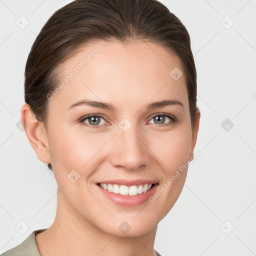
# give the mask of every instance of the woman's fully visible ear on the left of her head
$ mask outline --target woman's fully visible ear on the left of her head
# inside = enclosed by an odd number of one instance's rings
[[[37,158],[44,163],[49,163],[51,160],[44,123],[37,121],[27,103],[21,107],[20,115],[23,129]]]

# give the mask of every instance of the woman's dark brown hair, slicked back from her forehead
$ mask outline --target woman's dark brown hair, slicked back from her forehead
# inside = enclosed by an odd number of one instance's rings
[[[75,0],[55,11],[37,35],[25,66],[25,102],[47,128],[47,94],[59,83],[59,65],[80,46],[99,40],[145,39],[181,60],[191,126],[195,122],[196,69],[181,21],[157,0]],[[48,167],[52,170],[51,164]]]

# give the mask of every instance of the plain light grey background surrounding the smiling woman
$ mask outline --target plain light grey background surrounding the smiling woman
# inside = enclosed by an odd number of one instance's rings
[[[16,123],[30,47],[49,16],[68,2],[0,0],[0,253],[54,220],[55,179]],[[154,247],[164,256],[255,255],[256,1],[161,2],[191,37],[201,111],[195,151],[202,154],[158,224]],[[24,234],[15,228],[25,226],[20,221],[29,226]]]

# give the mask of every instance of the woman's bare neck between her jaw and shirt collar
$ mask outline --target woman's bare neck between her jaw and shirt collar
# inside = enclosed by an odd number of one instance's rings
[[[61,197],[61,194],[58,196]],[[157,226],[141,236],[111,235],[88,222],[63,198],[59,200],[58,197],[52,225],[35,237],[41,256],[153,256],[156,229]]]

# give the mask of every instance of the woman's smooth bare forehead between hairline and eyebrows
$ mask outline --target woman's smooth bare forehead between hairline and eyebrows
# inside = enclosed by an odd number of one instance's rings
[[[183,74],[173,79],[173,72]],[[144,40],[86,44],[60,65],[59,77],[58,85],[62,86],[54,93],[50,105],[64,109],[82,98],[136,107],[171,98],[188,105],[179,58]]]

